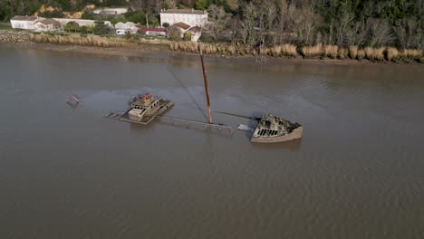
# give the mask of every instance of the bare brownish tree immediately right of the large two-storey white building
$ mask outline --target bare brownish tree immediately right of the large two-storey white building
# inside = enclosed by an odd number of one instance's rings
[[[226,14],[224,7],[217,5],[210,5],[208,9],[211,24],[208,25],[210,33],[214,40],[217,42],[230,20],[230,16]]]

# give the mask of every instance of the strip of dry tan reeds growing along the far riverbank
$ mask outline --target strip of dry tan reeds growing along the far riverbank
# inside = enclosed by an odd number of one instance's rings
[[[34,43],[53,43],[53,44],[76,44],[83,46],[98,46],[98,47],[121,47],[131,48],[137,47],[140,43],[169,45],[172,51],[185,53],[198,53],[198,43],[192,42],[169,42],[168,40],[146,40],[129,41],[120,38],[107,38],[97,35],[81,36],[73,35],[58,35],[58,34],[34,34],[30,35],[30,40]],[[250,48],[243,45],[232,45],[226,43],[202,43],[203,53],[219,54],[226,56],[245,56],[245,55],[267,55],[271,57],[296,57],[299,55],[304,58],[328,57],[332,59],[368,59],[370,61],[397,61],[399,59],[411,59],[422,62],[422,51],[415,49],[404,49],[402,51],[393,47],[371,48],[365,47],[359,49],[358,46],[351,45],[348,49],[338,47],[337,45],[322,45],[304,46],[297,51],[294,44],[281,44],[271,48],[263,48],[262,52],[259,49]]]

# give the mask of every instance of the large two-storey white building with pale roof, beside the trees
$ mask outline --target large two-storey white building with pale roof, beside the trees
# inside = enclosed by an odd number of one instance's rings
[[[185,23],[191,26],[205,27],[207,24],[207,12],[194,9],[169,9],[160,12],[160,25]]]

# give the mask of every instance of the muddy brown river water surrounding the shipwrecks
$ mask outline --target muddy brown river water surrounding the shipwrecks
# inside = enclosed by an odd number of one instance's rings
[[[206,121],[198,58],[0,44],[0,238],[424,238],[424,67],[207,57],[212,110],[304,139],[104,119],[132,95]],[[73,109],[69,94],[82,102]],[[202,110],[203,109],[203,110]]]

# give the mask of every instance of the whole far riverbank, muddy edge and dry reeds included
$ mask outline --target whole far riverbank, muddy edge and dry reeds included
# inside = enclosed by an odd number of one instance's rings
[[[28,33],[0,30],[0,42],[21,43],[24,47],[41,50],[73,53],[94,53],[118,56],[140,57],[151,54],[197,55],[198,43],[172,42],[168,39],[125,39],[120,37],[101,37],[80,34]],[[298,49],[291,44],[259,49],[223,43],[202,43],[204,53],[212,57],[246,58],[261,62],[294,62],[325,64],[374,64],[374,63],[423,63],[419,50],[402,50],[395,48],[349,49],[337,46],[316,45]]]

